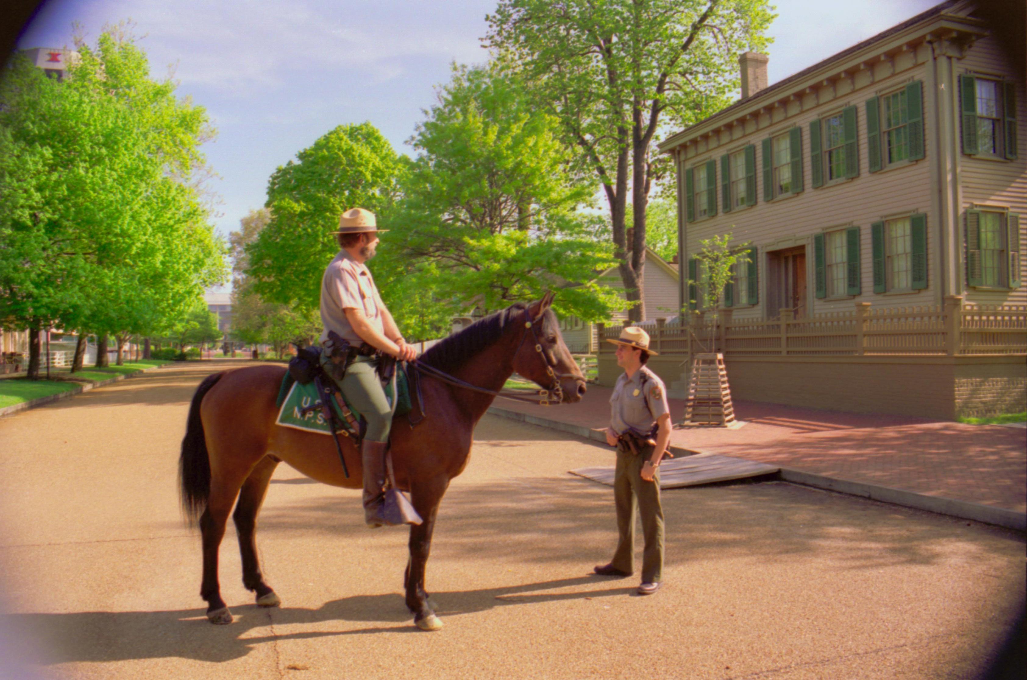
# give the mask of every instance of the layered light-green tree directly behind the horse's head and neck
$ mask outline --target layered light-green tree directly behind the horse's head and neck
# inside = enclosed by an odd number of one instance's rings
[[[375,263],[404,332],[423,336],[472,307],[539,297],[563,282],[583,285],[558,296],[561,314],[609,318],[619,297],[591,280],[612,266],[610,248],[587,238],[593,217],[581,210],[595,181],[574,171],[557,121],[490,68],[454,67],[426,115]]]

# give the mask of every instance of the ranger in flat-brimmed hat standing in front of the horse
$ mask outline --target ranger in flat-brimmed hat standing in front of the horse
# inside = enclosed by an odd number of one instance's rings
[[[617,365],[624,372],[610,397],[610,427],[606,443],[617,447],[613,498],[617,508],[617,550],[609,564],[596,567],[603,576],[630,576],[635,571],[635,506],[642,515],[645,552],[639,595],[659,589],[663,570],[663,509],[659,504],[659,462],[671,439],[671,412],[663,381],[645,365],[649,334],[626,326],[618,339]],[[655,439],[654,439],[655,438]]]

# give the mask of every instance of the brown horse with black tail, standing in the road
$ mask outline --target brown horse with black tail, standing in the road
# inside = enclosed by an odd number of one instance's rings
[[[547,293],[531,305],[517,304],[488,316],[429,349],[420,363],[492,392],[500,390],[517,371],[556,392],[560,401],[579,401],[585,391],[584,377],[564,345],[556,315],[549,310],[551,302]],[[256,593],[257,604],[280,604],[264,582],[255,541],[257,513],[278,463],[284,461],[304,475],[333,486],[358,489],[363,485],[360,453],[350,439],[342,438],[351,471],[347,479],[331,437],[275,425],[275,400],[284,372],[279,366],[253,366],[215,373],[193,396],[182,441],[179,485],[186,515],[194,523],[198,518],[202,532],[200,597],[207,602],[206,615],[213,624],[232,622],[221,599],[218,550],[233,506],[242,583]],[[467,465],[474,425],[494,396],[428,373],[422,375],[425,417],[414,427],[408,415],[396,416],[391,455],[397,486],[410,492],[424,520],[410,529],[410,560],[404,579],[407,606],[419,628],[436,630],[442,622],[424,591],[431,531],[450,480]],[[416,401],[415,412],[419,412]]]

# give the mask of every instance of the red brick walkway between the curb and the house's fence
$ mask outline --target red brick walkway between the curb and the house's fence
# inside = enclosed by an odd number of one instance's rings
[[[574,405],[495,406],[568,425],[609,423],[611,389],[588,386]],[[675,422],[684,400],[671,399]],[[675,430],[671,443],[835,479],[1027,511],[1027,430],[897,415],[844,413],[751,401],[734,402],[736,430]]]

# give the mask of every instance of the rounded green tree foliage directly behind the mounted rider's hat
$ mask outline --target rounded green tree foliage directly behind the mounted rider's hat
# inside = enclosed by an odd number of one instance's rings
[[[404,161],[371,123],[340,125],[278,167],[268,182],[268,224],[244,246],[253,290],[269,303],[317,310],[338,252],[339,215],[362,207],[379,224],[392,207]]]

